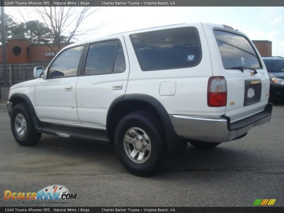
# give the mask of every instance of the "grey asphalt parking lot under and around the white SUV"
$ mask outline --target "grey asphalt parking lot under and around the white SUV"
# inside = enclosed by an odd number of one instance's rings
[[[67,206],[253,206],[256,199],[284,206],[283,112],[284,104],[274,106],[269,123],[238,141],[210,150],[188,145],[162,172],[140,178],[106,144],[43,134],[36,146],[20,146],[0,109],[0,206],[13,206],[5,190],[54,184],[78,194]]]

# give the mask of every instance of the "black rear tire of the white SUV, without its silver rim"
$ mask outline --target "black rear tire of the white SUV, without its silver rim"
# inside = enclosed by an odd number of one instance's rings
[[[167,144],[161,126],[154,115],[144,111],[129,113],[118,122],[114,133],[114,144],[118,159],[126,170],[146,177],[162,169],[167,161]],[[124,136],[134,127],[142,129],[151,141],[151,153],[143,163],[133,162],[125,151]]]

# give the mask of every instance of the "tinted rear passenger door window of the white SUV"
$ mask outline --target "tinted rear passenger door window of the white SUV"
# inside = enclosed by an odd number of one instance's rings
[[[124,72],[124,70],[125,60],[119,41],[104,41],[90,45],[86,59],[85,75]]]

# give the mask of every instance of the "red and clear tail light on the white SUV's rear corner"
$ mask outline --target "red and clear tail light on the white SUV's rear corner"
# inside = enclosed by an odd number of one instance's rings
[[[210,77],[207,88],[207,104],[211,107],[226,106],[227,82],[223,76]]]

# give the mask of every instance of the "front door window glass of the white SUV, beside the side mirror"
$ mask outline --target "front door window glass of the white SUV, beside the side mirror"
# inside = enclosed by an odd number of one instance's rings
[[[77,75],[78,65],[84,46],[63,51],[50,65],[47,78]]]

